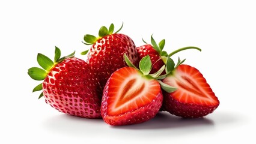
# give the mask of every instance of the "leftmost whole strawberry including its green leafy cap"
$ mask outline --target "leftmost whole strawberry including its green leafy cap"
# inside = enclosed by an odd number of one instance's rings
[[[38,64],[44,68],[29,68],[28,74],[43,83],[33,89],[41,91],[39,98],[45,98],[59,112],[84,118],[100,118],[101,95],[94,70],[74,53],[60,58],[61,51],[55,47],[55,61],[40,53]]]

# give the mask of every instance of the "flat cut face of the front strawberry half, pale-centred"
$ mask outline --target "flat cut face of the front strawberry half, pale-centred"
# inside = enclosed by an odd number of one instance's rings
[[[159,89],[156,80],[148,80],[135,68],[117,70],[108,82],[108,115],[121,115],[151,103]]]

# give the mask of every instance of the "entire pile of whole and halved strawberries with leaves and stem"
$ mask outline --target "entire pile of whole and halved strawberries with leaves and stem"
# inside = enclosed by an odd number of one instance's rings
[[[43,83],[33,92],[43,90],[39,98],[59,112],[103,118],[110,125],[138,124],[159,111],[198,118],[219,106],[197,68],[183,64],[185,59],[176,64],[171,59],[181,50],[201,49],[183,47],[168,54],[165,40],[157,44],[151,36],[151,44],[136,47],[132,38],[117,32],[111,24],[100,28],[99,37],[85,35],[83,43],[92,44],[81,53],[87,62],[75,58],[75,52],[61,58],[58,47],[53,61],[38,53],[41,68],[29,68],[28,74]]]

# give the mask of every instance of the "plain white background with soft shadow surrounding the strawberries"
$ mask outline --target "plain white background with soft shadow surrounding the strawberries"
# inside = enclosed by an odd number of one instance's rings
[[[0,143],[255,143],[256,8],[253,1],[1,1]],[[124,22],[121,33],[136,46],[165,38],[206,77],[221,104],[203,119],[168,113],[138,125],[111,127],[102,119],[57,112],[37,100],[28,68],[37,53],[53,58],[89,49],[85,34]],[[117,30],[117,29],[116,29]]]

